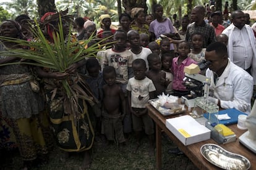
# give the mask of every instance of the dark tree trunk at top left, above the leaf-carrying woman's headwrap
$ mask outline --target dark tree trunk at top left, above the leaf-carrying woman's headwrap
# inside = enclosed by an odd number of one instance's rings
[[[56,12],[54,0],[36,0],[38,4],[38,15],[41,18],[46,12]]]

